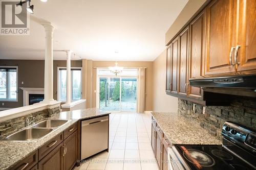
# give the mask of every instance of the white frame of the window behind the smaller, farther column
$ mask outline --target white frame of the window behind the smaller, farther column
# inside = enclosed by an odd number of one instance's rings
[[[59,90],[60,90],[59,70],[63,69],[63,68],[67,70],[67,67],[57,67],[57,101],[64,103],[64,102],[66,102],[66,99],[65,99],[65,101],[61,101],[60,100],[61,99],[60,92],[59,92]],[[71,69],[81,69],[81,89],[82,89],[82,67],[71,67]],[[73,87],[73,75],[71,74],[70,77],[71,77],[71,87]],[[81,95],[82,95],[82,90],[81,90]],[[82,99],[82,96],[81,96],[81,99]],[[75,100],[75,101],[77,101],[77,100]],[[73,88],[71,88],[71,102],[74,102],[73,101]]]

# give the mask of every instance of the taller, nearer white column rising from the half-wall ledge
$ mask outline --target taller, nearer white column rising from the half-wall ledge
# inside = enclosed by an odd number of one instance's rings
[[[53,31],[51,23],[43,25],[46,32],[45,54],[45,99],[42,103],[51,103],[53,99]]]

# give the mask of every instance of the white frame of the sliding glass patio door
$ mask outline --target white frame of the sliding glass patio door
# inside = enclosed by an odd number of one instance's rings
[[[138,76],[103,76],[103,75],[100,75],[98,76],[97,75],[97,80],[96,80],[96,108],[100,108],[99,107],[99,103],[100,103],[100,100],[99,100],[99,88],[100,88],[100,78],[119,78],[119,81],[120,81],[120,90],[119,90],[119,95],[120,95],[120,100],[119,100],[119,111],[116,111],[116,110],[109,110],[109,111],[112,111],[112,112],[137,112],[137,104],[138,104],[138,101],[136,100],[136,110],[135,111],[122,111],[122,107],[121,107],[121,100],[122,100],[122,78],[136,78],[137,81],[138,81]],[[138,84],[137,84],[138,86]],[[137,95],[137,99],[138,99],[138,87],[136,88],[136,95]]]

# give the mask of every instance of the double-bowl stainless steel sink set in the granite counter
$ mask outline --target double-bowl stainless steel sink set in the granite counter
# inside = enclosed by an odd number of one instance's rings
[[[12,141],[37,141],[69,121],[66,119],[43,119],[32,126],[10,134],[5,139]]]

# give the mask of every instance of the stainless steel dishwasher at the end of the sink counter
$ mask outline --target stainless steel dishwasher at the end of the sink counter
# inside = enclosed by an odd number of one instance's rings
[[[109,116],[81,121],[81,159],[108,149]]]

